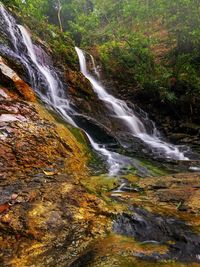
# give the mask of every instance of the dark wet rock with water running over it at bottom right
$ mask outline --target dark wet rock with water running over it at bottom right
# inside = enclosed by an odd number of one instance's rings
[[[119,215],[113,230],[118,234],[132,236],[140,242],[155,242],[168,246],[166,254],[138,255],[143,259],[200,262],[198,258],[200,235],[184,222],[174,218],[150,214],[148,211],[136,208],[132,214]]]

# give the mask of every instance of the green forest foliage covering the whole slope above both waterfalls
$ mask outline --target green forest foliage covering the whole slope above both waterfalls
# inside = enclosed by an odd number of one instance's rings
[[[77,57],[71,39],[96,51],[109,78],[163,102],[200,91],[199,0],[60,0],[64,33],[58,27],[58,0],[3,3],[14,6],[30,29],[50,44],[56,60],[73,68]],[[162,31],[167,32],[163,39]],[[168,51],[162,51],[163,42]]]

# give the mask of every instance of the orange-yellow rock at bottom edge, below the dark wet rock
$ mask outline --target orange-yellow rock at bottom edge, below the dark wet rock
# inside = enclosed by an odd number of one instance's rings
[[[150,267],[152,262],[139,259],[135,255],[145,254],[152,255],[153,253],[165,254],[167,247],[154,244],[141,244],[132,237],[125,237],[121,235],[111,234],[105,239],[97,241],[95,244],[95,259],[92,262],[92,266],[116,266],[116,267]],[[105,257],[106,255],[106,257]],[[172,261],[166,261],[166,264],[160,262],[153,262],[154,266],[168,266],[167,263]],[[171,266],[171,265],[170,265]],[[180,265],[174,265],[180,266]]]

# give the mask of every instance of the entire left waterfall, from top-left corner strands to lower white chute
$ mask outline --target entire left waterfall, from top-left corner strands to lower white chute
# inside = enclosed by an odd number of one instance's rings
[[[0,12],[2,13],[2,16],[4,17],[4,20],[7,24],[7,27],[10,32],[10,37],[13,46],[15,47],[15,50],[17,51],[17,36],[16,36],[16,28],[12,21],[12,17],[8,14],[8,12],[4,9],[3,6],[0,6]],[[27,32],[27,30],[21,26],[18,25],[18,29],[21,32],[21,35],[23,37],[23,42],[27,48],[28,51],[28,56],[30,57],[31,61],[35,64],[36,68],[38,71],[42,74],[46,81],[46,86],[48,90],[44,93],[39,90],[37,84],[35,84],[35,78],[34,78],[34,73],[31,71],[29,68],[29,65],[27,64],[27,58],[24,57],[23,55],[20,55],[23,64],[25,65],[26,69],[28,72],[31,74],[32,72],[32,84],[37,91],[39,97],[48,105],[52,106],[55,110],[57,110],[60,115],[67,120],[71,125],[77,126],[73,119],[69,116],[69,113],[72,113],[72,110],[69,106],[69,102],[66,98],[66,95],[64,94],[64,88],[59,80],[57,74],[53,72],[53,70],[49,69],[48,66],[41,64],[36,56],[35,49],[33,46],[33,43],[31,41],[30,35]],[[95,67],[95,65],[94,65]],[[92,147],[99,152],[100,154],[104,155],[107,158],[108,165],[109,165],[109,173],[110,175],[115,175],[120,169],[120,166],[122,165],[122,162],[117,158],[115,159],[114,156],[116,157],[117,154],[108,151],[106,148],[101,147],[99,144],[97,144],[89,134],[87,134],[88,139],[92,145]]]

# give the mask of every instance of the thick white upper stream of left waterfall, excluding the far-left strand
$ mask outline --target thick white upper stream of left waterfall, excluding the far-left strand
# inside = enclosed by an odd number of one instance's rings
[[[18,25],[18,28],[22,34],[24,44],[27,47],[31,60],[35,63],[36,67],[42,73],[47,82],[48,91],[46,92],[46,95],[37,91],[39,96],[44,102],[53,106],[70,124],[76,126],[74,121],[68,115],[70,107],[69,102],[63,94],[64,88],[61,88],[61,84],[58,83],[58,79],[54,78],[52,71],[50,71],[47,66],[41,65],[38,62],[33,43],[27,30],[21,25]]]

